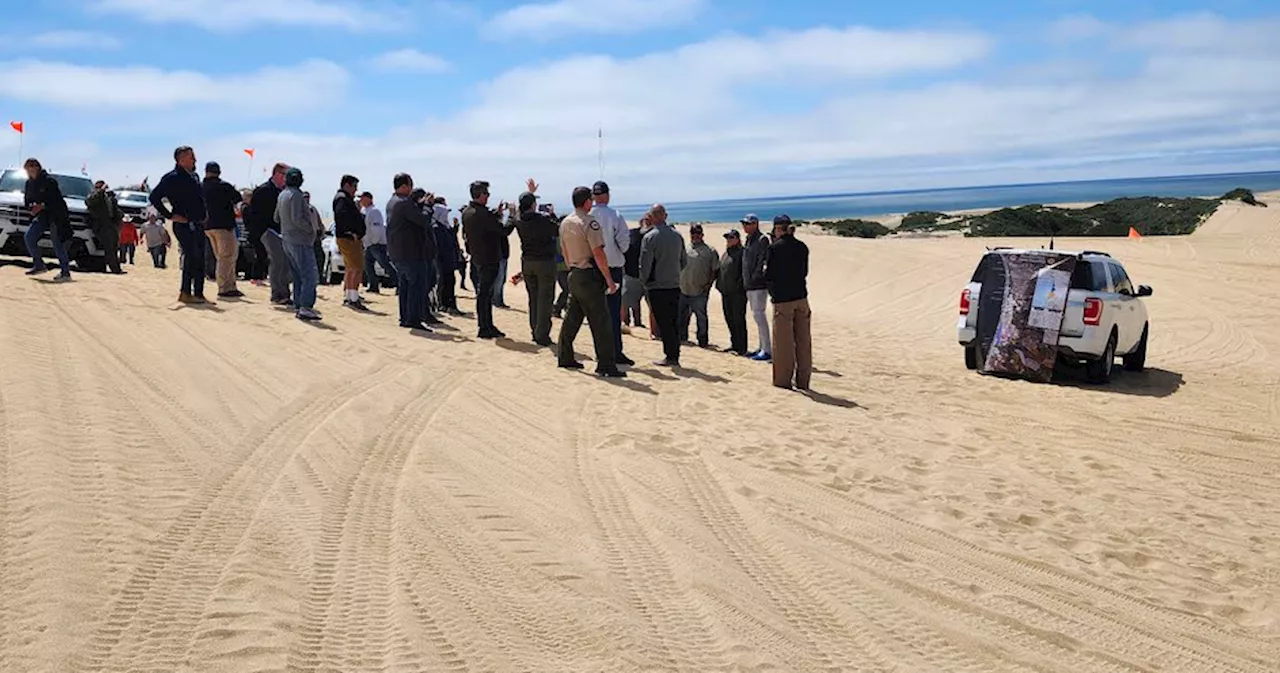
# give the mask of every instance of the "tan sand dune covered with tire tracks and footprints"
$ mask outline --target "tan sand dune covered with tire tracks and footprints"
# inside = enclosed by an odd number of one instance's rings
[[[988,241],[810,238],[813,398],[0,266],[0,670],[1274,672],[1270,202],[1060,246],[1156,288],[1101,389],[964,370]]]

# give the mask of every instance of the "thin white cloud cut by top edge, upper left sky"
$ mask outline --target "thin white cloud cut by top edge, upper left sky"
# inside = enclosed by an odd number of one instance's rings
[[[210,31],[262,24],[380,31],[401,12],[355,0],[95,0],[100,14],[129,14],[150,23],[186,23]]]

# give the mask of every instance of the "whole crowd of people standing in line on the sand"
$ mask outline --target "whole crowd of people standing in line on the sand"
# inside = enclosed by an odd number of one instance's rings
[[[28,274],[45,273],[35,241],[52,228],[54,251],[61,265],[59,278],[68,279],[65,203],[56,180],[38,161],[28,160],[26,168],[27,205],[33,215],[27,242],[35,262]],[[179,302],[210,303],[205,297],[206,247],[214,260],[215,269],[209,275],[216,281],[218,297],[242,297],[236,269],[237,228],[242,223],[256,252],[247,280],[268,284],[271,303],[292,308],[298,320],[323,320],[315,303],[319,274],[325,266],[320,241],[326,228],[311,205],[310,193],[302,191],[302,171],[275,164],[270,178],[251,192],[237,191],[220,174],[219,165],[209,162],[201,180],[195,151],[178,147],[174,169],[150,193],[155,214],[141,233],[136,225],[122,221],[114,196],[99,183],[86,205],[91,223],[119,223],[116,229],[100,235],[110,241],[104,244],[110,273],[124,273],[120,265],[125,260],[133,262],[138,243],[146,244],[157,267],[165,266],[170,241],[163,224],[156,223],[163,219],[172,223],[182,252]],[[374,196],[360,192],[356,177],[343,175],[339,180],[333,198],[333,235],[344,266],[344,307],[369,311],[361,287],[380,293],[376,264],[396,287],[401,328],[431,331],[443,324],[442,313],[467,317],[458,308],[454,281],[466,289],[470,275],[477,338],[503,339],[507,335],[494,324],[494,308],[506,307],[509,237],[516,233],[521,242],[521,267],[509,281],[522,283],[527,290],[530,339],[554,347],[561,367],[585,368],[573,343],[586,321],[595,372],[625,377],[622,367],[635,362],[625,353],[622,336],[632,326],[645,328],[643,303],[648,303],[650,338],[660,340],[663,347],[663,358],[655,365],[680,367],[685,344],[710,347],[708,305],[714,289],[721,293],[730,333],[723,352],[772,362],[773,384],[780,388],[809,388],[813,368],[806,287],[809,249],[795,237],[795,226],[786,215],[773,219],[772,235],[762,230],[758,216],[744,216],[742,232],[727,232],[721,253],[708,244],[698,224],[690,228],[686,244],[684,235],[667,221],[662,205],[650,207],[637,226],[628,229],[626,219],[609,205],[609,186],[603,180],[575,188],[573,212],[564,216],[557,216],[550,203],[539,205],[538,183],[532,179],[516,203],[503,201],[497,207],[489,206],[489,183],[476,180],[470,186],[471,201],[462,209],[461,221],[454,218],[452,223],[447,201],[417,188],[410,174],[397,174],[392,188],[384,216],[374,205]],[[97,233],[108,224],[93,226]],[[755,324],[754,349],[748,348],[748,312]],[[563,317],[556,339],[553,316]],[[690,342],[694,322],[696,342]]]

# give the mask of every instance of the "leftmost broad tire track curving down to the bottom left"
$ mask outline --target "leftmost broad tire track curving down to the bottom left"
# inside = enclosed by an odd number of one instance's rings
[[[323,386],[287,404],[239,443],[241,450],[221,473],[152,542],[87,650],[70,655],[72,670],[175,670],[206,599],[268,487],[302,443],[342,406],[384,383],[388,368],[384,365],[346,384]]]

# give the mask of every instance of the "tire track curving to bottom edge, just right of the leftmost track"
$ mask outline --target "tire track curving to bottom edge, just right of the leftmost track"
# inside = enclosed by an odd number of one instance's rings
[[[288,670],[428,670],[392,595],[392,517],[397,481],[417,439],[467,377],[448,372],[398,406],[357,468],[334,485],[321,517],[311,585]],[[358,450],[358,447],[353,447]],[[436,661],[453,661],[445,645]]]

